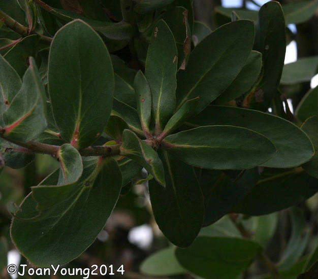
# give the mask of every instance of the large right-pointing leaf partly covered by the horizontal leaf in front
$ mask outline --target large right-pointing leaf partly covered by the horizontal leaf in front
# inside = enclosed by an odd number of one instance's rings
[[[233,125],[263,134],[277,148],[277,153],[267,162],[268,167],[288,168],[298,166],[313,156],[308,136],[293,123],[267,113],[253,110],[209,106],[189,120],[188,127],[205,125]],[[290,135],[293,136],[290,136]],[[279,135],[279,136],[278,136]]]

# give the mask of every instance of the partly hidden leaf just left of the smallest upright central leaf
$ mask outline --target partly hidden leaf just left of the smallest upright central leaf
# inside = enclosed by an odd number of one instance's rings
[[[129,106],[129,104],[126,104],[114,98],[111,115],[120,117],[127,123],[131,130],[133,130],[140,136],[145,136],[140,125],[138,112],[135,108]]]

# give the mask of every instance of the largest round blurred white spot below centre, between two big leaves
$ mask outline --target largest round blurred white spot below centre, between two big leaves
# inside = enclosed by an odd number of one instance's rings
[[[150,247],[153,239],[152,229],[149,225],[141,225],[132,228],[128,234],[128,240],[137,245],[140,249],[147,249]]]

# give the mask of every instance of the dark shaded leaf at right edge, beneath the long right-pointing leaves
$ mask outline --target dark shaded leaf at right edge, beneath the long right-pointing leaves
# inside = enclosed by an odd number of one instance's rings
[[[314,195],[318,191],[317,182],[298,168],[265,170],[255,187],[232,212],[257,216],[280,211]]]

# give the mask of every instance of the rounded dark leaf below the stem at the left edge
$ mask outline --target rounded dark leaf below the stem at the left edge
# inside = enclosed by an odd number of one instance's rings
[[[11,168],[21,168],[34,161],[35,154],[28,152],[25,148],[7,142],[0,138],[0,153],[5,165]]]

